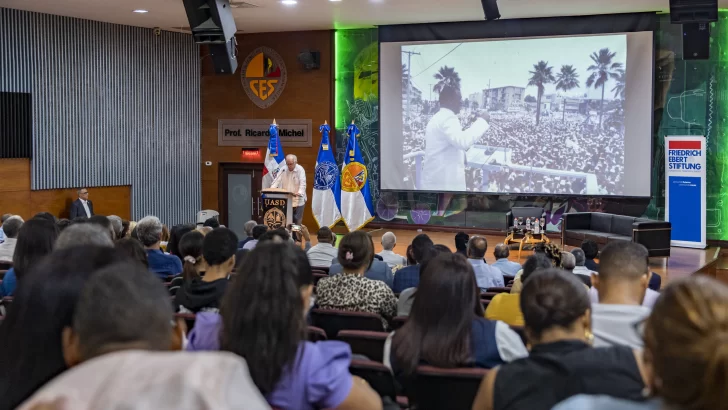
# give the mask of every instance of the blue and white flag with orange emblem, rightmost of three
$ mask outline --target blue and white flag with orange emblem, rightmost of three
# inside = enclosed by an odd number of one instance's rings
[[[341,170],[341,216],[349,231],[356,231],[374,219],[374,208],[369,190],[369,173],[356,142],[360,132],[353,121],[346,134],[349,141]]]

